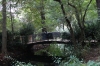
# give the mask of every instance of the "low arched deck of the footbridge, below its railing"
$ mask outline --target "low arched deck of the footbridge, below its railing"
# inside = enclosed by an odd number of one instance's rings
[[[27,48],[34,48],[34,50],[44,49],[50,44],[72,44],[70,40],[42,40],[27,43]]]

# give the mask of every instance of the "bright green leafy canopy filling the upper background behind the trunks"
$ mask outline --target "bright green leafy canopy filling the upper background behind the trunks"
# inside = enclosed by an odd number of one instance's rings
[[[87,4],[89,3],[89,0],[68,0],[70,3],[75,5],[77,7],[78,13],[80,18],[83,16],[85,8]],[[75,10],[68,5],[68,1],[62,0],[62,3],[64,4],[64,8],[66,10],[66,16],[68,16],[69,20],[71,23],[77,22],[76,20],[76,15],[75,15]],[[8,1],[9,2],[9,1]],[[15,31],[18,31],[19,28],[21,28],[21,22],[32,22],[34,27],[36,28],[36,32],[41,32],[42,25],[41,24],[41,18],[40,18],[40,11],[41,11],[41,0],[20,0],[20,1],[12,1],[12,3],[17,3],[17,4],[12,4],[15,6],[15,12],[13,18],[13,23],[14,23],[14,29]],[[64,16],[62,14],[62,11],[60,9],[59,3],[55,2],[54,0],[44,0],[43,1],[44,5],[44,12],[45,12],[45,27],[47,28],[48,31],[53,31],[55,30],[54,28],[59,26],[60,24],[65,24]],[[13,10],[12,6],[12,10]],[[82,12],[81,12],[82,11]],[[9,11],[7,10],[7,15],[9,16]],[[0,12],[0,20],[1,20],[1,12]],[[97,12],[96,12],[96,2],[95,0],[92,1],[87,15],[86,15],[86,20],[95,20],[97,18]],[[52,27],[51,27],[52,26]],[[7,18],[7,28],[11,30],[11,21],[10,18]]]

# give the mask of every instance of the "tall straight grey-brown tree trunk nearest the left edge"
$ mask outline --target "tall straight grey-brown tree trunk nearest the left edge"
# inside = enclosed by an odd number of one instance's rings
[[[6,0],[2,0],[2,54],[7,54]]]

